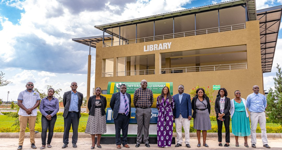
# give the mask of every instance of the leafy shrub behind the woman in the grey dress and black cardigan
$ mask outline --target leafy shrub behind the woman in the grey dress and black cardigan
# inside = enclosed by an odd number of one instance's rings
[[[196,96],[196,90],[198,89],[198,88],[203,88],[204,90],[205,90],[205,94],[207,95],[207,97],[210,99],[210,104],[211,104],[211,111],[214,113],[214,96],[212,95],[213,93],[214,93],[214,90],[212,89],[212,88],[210,88],[209,86],[208,86],[208,88],[206,89],[204,86],[199,86],[198,84],[197,84],[197,86],[196,87],[194,87],[194,88],[192,88],[191,90],[190,90],[190,95],[191,95],[191,100],[192,100],[192,98],[194,97],[194,96]]]

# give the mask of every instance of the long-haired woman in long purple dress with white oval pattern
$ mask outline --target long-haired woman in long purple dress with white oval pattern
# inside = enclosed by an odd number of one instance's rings
[[[171,146],[173,133],[173,109],[174,100],[170,95],[170,89],[165,86],[162,93],[157,98],[158,122],[157,122],[157,140],[158,147],[167,148]]]

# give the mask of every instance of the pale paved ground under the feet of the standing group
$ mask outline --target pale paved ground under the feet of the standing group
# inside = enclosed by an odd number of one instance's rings
[[[71,141],[71,138],[69,139]],[[183,139],[184,141],[185,139]],[[218,142],[217,142],[217,138],[208,138],[207,139],[207,144],[209,145],[209,148],[206,148],[204,146],[201,146],[200,148],[197,147],[197,143],[198,140],[195,138],[190,139],[190,146],[191,148],[186,148],[184,143],[181,147],[174,147],[175,145],[172,145],[171,147],[168,147],[166,149],[176,149],[176,150],[180,150],[180,149],[186,149],[186,150],[192,150],[192,149],[196,149],[196,150],[215,150],[215,149],[228,149],[228,150],[241,150],[241,149],[249,149],[249,150],[266,150],[266,148],[263,147],[262,145],[262,141],[261,139],[257,139],[257,148],[254,149],[251,147],[251,139],[248,139],[248,144],[249,144],[249,148],[244,147],[244,139],[243,138],[239,138],[239,147],[235,147],[235,139],[230,139],[231,143],[230,143],[230,147],[226,148],[226,147],[219,147],[218,146]],[[37,149],[39,149],[41,147],[41,138],[35,138],[35,146],[37,147]],[[202,142],[202,141],[201,141]],[[16,150],[18,147],[18,138],[1,138],[1,142],[0,142],[0,150]],[[46,150],[62,150],[62,138],[53,138],[52,139],[52,148],[45,148]],[[130,149],[138,149],[138,150],[144,150],[144,149],[157,149],[157,150],[162,150],[165,148],[158,148],[157,144],[150,144],[151,148],[147,148],[144,146],[144,144],[141,144],[141,146],[139,148],[135,148],[135,144],[130,144]],[[223,143],[224,145],[224,143]],[[277,149],[277,150],[282,150],[282,139],[268,139],[268,145],[271,146],[271,150],[273,149]],[[78,139],[78,143],[77,143],[77,148],[73,148],[71,144],[68,145],[68,147],[64,150],[81,150],[81,149],[90,149],[91,147],[91,138],[79,138]],[[105,145],[102,144],[102,149],[116,149],[116,145],[114,144],[109,144],[109,145]],[[24,145],[23,145],[23,150],[26,149],[31,149],[30,148],[30,143],[29,143],[29,138],[26,138],[24,140]],[[95,149],[99,149],[97,147],[95,147]],[[124,147],[122,147],[122,149],[126,149]],[[100,149],[101,150],[101,149]]]

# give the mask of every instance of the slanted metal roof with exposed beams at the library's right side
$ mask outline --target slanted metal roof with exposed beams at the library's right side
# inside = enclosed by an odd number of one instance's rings
[[[282,15],[282,5],[257,10],[261,39],[261,68],[271,72]]]

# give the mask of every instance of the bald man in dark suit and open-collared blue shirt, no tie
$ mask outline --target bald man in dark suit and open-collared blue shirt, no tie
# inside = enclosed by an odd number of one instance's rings
[[[81,117],[80,107],[82,104],[83,94],[76,91],[77,83],[71,83],[71,91],[67,91],[63,96],[63,104],[65,107],[63,117],[64,117],[64,145],[62,149],[68,147],[68,136],[69,131],[72,127],[72,147],[77,148],[77,139],[78,139],[78,124]]]

